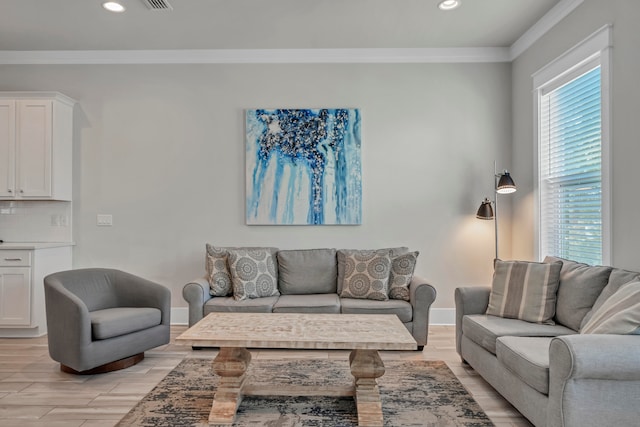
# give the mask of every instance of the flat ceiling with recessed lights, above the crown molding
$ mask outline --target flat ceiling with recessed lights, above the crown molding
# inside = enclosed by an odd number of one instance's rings
[[[561,0],[2,0],[0,51],[508,47]]]

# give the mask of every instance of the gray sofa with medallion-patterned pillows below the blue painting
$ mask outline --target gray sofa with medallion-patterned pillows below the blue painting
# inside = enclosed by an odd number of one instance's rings
[[[182,291],[189,326],[211,312],[395,314],[427,344],[436,290],[413,275],[417,252],[206,245],[206,273]],[[363,320],[365,321],[365,320]]]

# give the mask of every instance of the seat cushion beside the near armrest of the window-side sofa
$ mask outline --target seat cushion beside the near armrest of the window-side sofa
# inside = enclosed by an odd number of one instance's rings
[[[542,394],[549,394],[549,346],[553,338],[500,337],[496,356],[515,376]]]

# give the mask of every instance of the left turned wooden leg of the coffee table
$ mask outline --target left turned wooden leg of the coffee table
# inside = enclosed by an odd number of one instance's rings
[[[209,424],[233,424],[242,402],[245,373],[251,362],[251,353],[245,348],[223,347],[213,360],[213,371],[220,376],[213,397]]]

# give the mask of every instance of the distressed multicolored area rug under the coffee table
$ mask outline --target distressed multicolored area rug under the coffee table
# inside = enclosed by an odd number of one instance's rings
[[[492,426],[441,361],[385,361],[378,379],[385,426]],[[348,362],[327,359],[253,360],[251,384],[351,384]],[[217,378],[210,359],[185,359],[118,426],[208,426]],[[234,426],[350,427],[358,425],[351,397],[246,396]]]

